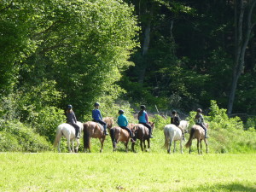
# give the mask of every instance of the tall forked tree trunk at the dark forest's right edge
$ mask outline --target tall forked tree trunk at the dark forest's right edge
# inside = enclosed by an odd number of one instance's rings
[[[245,52],[247,49],[247,44],[249,39],[251,38],[251,32],[255,23],[252,24],[252,15],[253,15],[253,8],[255,7],[256,0],[250,0],[248,3],[244,3],[243,0],[239,1],[240,4],[235,2],[235,66],[233,68],[233,79],[232,84],[230,87],[230,98],[228,104],[228,115],[232,113],[233,105],[235,101],[236,95],[236,87],[238,79],[243,72],[244,63],[245,63]],[[245,11],[247,11],[247,18],[244,19]],[[239,12],[239,17],[237,18],[236,12]],[[238,20],[237,20],[238,19]],[[245,31],[243,31],[243,26],[247,25]]]

